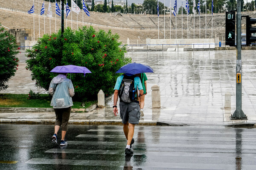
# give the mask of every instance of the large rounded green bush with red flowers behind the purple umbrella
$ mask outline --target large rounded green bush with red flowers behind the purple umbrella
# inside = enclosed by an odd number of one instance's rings
[[[57,34],[45,34],[32,50],[27,50],[26,68],[32,72],[36,86],[48,90],[51,79],[56,73],[50,71],[58,65],[78,65],[88,68],[91,74],[72,74],[75,98],[96,99],[100,89],[105,95],[113,94],[115,72],[131,58],[125,57],[125,47],[120,48],[118,34],[96,32],[93,27],[83,27],[78,31],[70,28]],[[62,47],[63,45],[63,47]],[[70,78],[70,74],[68,74]]]

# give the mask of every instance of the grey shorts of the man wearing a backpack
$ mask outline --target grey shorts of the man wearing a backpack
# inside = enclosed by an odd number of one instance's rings
[[[126,124],[127,121],[131,124],[139,124],[140,120],[140,105],[136,102],[125,103],[120,102],[120,117],[122,123]]]

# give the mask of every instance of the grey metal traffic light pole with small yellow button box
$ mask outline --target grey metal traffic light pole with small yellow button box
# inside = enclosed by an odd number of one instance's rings
[[[231,120],[247,119],[242,111],[241,0],[237,0],[236,36],[236,111],[231,115]]]

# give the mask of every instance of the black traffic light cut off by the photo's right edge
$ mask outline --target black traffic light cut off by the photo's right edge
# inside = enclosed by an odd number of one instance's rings
[[[256,23],[256,18],[246,16],[246,45],[249,46],[251,42],[256,41],[256,36],[252,36],[252,33],[256,32],[256,27],[251,27]]]

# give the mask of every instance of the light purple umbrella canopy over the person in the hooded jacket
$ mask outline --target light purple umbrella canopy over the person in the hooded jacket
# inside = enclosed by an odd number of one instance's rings
[[[53,68],[50,72],[54,73],[92,73],[88,68],[77,65],[62,65]]]

